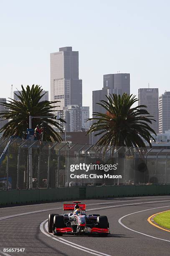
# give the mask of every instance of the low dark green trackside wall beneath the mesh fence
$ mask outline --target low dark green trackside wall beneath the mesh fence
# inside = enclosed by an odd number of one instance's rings
[[[77,199],[170,195],[170,185],[63,187],[58,189],[1,190],[0,205]]]

